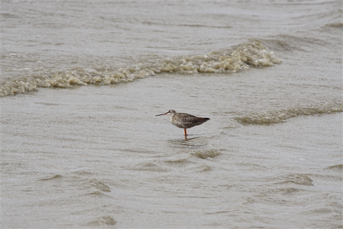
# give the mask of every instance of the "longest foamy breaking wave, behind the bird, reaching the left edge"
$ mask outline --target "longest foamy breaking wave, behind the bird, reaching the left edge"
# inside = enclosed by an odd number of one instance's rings
[[[282,60],[278,59],[260,40],[250,39],[246,43],[232,47],[231,50],[195,56],[170,57],[155,62],[150,60],[118,69],[109,66],[92,69],[75,67],[69,71],[51,75],[37,74],[11,78],[0,82],[0,97],[28,93],[37,88],[116,84],[163,72],[180,74],[239,72],[249,69],[250,66],[266,67],[281,62]]]

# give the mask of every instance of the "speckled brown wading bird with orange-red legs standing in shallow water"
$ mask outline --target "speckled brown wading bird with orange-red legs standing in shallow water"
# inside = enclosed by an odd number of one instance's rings
[[[171,124],[178,128],[183,128],[185,130],[185,137],[187,136],[186,129],[199,126],[205,121],[209,120],[209,118],[200,118],[190,114],[176,113],[176,111],[174,110],[169,110],[166,113],[160,115],[169,115]]]

